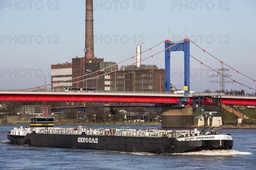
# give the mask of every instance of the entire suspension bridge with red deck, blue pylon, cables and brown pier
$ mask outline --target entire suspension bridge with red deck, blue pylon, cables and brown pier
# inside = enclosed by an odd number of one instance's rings
[[[72,79],[67,79],[64,81],[60,81],[57,84],[49,84],[44,86],[38,86],[37,88],[27,88],[23,91],[0,91],[0,101],[10,101],[10,102],[17,102],[17,101],[27,101],[27,102],[123,102],[123,103],[154,103],[154,104],[163,104],[162,109],[162,126],[163,127],[186,127],[188,125],[193,125],[193,109],[192,107],[185,107],[185,106],[195,106],[197,107],[200,102],[204,105],[221,105],[223,108],[230,110],[230,112],[234,113],[232,109],[229,109],[228,105],[248,105],[248,106],[256,106],[256,96],[255,96],[255,85],[256,80],[249,77],[248,75],[243,74],[241,71],[231,67],[226,62],[223,62],[221,59],[210,54],[204,48],[197,45],[195,42],[192,42],[189,39],[185,39],[180,42],[171,42],[170,40],[163,41],[165,43],[165,48],[162,51],[158,51],[145,59],[153,59],[156,58],[157,54],[161,52],[165,53],[165,93],[111,93],[111,92],[104,92],[98,93],[98,89],[96,89],[96,93],[84,93],[84,92],[60,92],[58,91],[59,85],[61,83],[65,83],[65,85],[76,84],[78,86],[79,82],[87,81],[89,79],[98,79],[99,77],[103,77],[105,75],[109,75],[111,73],[116,74],[117,71],[120,71],[115,68],[116,64],[121,64],[122,62],[127,62],[128,60],[134,60],[134,57],[137,55],[143,54],[146,51],[151,51],[156,46],[160,45],[161,43],[148,48],[147,50],[141,52],[132,57],[128,57],[123,61],[116,63],[115,65],[110,65],[105,67],[101,70],[97,70],[91,73],[83,74],[79,77],[75,77]],[[211,68],[206,63],[200,61],[196,57],[190,54],[190,43],[196,45],[200,48],[202,55],[209,55],[210,57],[216,59],[222,66],[223,65],[233,69],[237,75],[241,75],[246,77],[250,82],[253,82],[253,86],[246,85],[242,82],[239,82],[238,77],[237,79],[231,79],[229,75],[224,74],[222,70],[218,70],[216,68]],[[184,94],[171,94],[170,93],[170,60],[171,60],[171,52],[173,51],[184,51]],[[191,96],[190,89],[190,58],[195,59],[198,61],[199,65],[204,65],[204,67],[209,68],[214,72],[216,75],[221,76],[220,82],[220,91],[225,91],[225,79],[228,79],[230,82],[243,86],[244,88],[249,89],[251,92],[251,96],[226,96],[224,93],[215,95],[199,95],[199,96]],[[123,67],[135,66],[137,62],[141,61],[133,61],[130,65],[125,65]],[[111,71],[105,71],[107,68],[114,67]],[[99,74],[104,72],[104,74]],[[91,74],[91,75],[90,75]],[[92,75],[96,74],[95,77]],[[89,77],[89,78],[88,78]],[[125,83],[124,83],[125,84]],[[47,91],[49,89],[50,91]],[[52,91],[52,89],[56,90]],[[124,88],[125,90],[125,88]],[[224,95],[223,95],[224,94]],[[221,108],[221,107],[220,107]],[[244,115],[240,113],[235,113],[238,117],[244,118]]]

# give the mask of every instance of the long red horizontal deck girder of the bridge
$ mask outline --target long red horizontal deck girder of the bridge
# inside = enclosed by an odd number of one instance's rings
[[[178,104],[183,94],[141,94],[141,93],[84,93],[84,92],[32,92],[0,91],[1,102],[124,102],[124,103],[169,103]],[[192,105],[195,96],[189,96],[187,104]],[[207,97],[205,105],[212,105]],[[221,96],[227,105],[256,106],[256,96]]]

